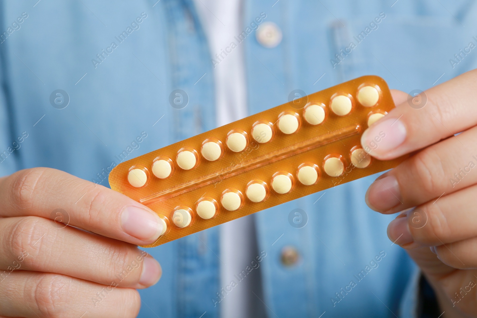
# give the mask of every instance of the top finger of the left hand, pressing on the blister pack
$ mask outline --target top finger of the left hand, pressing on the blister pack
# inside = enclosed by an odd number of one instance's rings
[[[136,245],[154,242],[163,232],[164,221],[151,209],[59,170],[21,170],[1,178],[0,189],[1,216],[61,217],[72,226]]]

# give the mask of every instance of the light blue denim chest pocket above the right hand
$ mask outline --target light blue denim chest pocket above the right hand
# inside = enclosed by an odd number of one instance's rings
[[[340,81],[370,73],[391,88],[425,90],[477,67],[477,24],[462,22],[450,13],[446,18],[381,13],[343,21],[346,27],[332,24],[336,53],[330,64]]]

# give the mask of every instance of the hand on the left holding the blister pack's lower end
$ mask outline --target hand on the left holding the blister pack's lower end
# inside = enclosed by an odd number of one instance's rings
[[[62,171],[0,178],[0,316],[136,317],[135,288],[161,267],[135,244],[161,231],[144,205]]]

